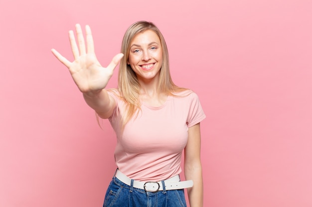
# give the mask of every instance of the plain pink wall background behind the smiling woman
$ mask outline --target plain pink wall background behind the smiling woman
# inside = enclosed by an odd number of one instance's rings
[[[173,80],[193,89],[205,207],[312,207],[311,0],[0,0],[0,206],[100,207],[115,170],[67,69],[67,31],[90,24],[100,62],[153,21]],[[110,87],[117,84],[117,71]]]

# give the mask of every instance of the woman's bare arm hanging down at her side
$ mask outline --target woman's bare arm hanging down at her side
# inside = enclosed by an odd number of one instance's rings
[[[184,174],[186,180],[194,182],[194,186],[187,189],[190,207],[203,207],[199,123],[188,128],[188,140],[184,149]]]

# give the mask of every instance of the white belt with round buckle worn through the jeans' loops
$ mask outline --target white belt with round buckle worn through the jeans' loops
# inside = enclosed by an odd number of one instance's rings
[[[119,170],[116,171],[115,177],[118,178],[121,182],[124,184],[131,186],[131,178],[124,175]],[[187,181],[180,181],[180,176],[176,175],[172,178],[169,178],[167,180],[164,180],[164,186],[165,190],[176,190],[176,189],[183,189],[183,188],[190,188],[193,187],[193,181],[187,180]],[[156,192],[156,191],[162,191],[162,184],[161,181],[158,182],[143,182],[143,181],[133,181],[133,187],[139,188],[148,192]]]

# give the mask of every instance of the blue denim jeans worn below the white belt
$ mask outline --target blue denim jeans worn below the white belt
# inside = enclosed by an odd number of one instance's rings
[[[103,207],[186,207],[186,202],[184,189],[146,192],[114,177],[107,189]]]

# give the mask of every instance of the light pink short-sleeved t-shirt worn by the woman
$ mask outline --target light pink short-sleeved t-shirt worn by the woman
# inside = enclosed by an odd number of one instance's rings
[[[143,103],[138,117],[134,116],[121,134],[119,120],[125,115],[126,105],[114,93],[109,94],[117,103],[109,120],[117,135],[115,161],[119,170],[140,181],[160,181],[178,175],[188,128],[205,118],[198,96],[184,91],[176,94],[184,96],[168,96],[160,107]]]

